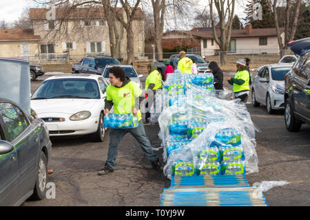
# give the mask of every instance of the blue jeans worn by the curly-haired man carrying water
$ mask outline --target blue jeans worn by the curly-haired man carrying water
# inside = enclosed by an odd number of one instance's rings
[[[114,169],[115,160],[117,157],[118,144],[126,133],[131,133],[138,141],[143,151],[146,153],[149,162],[154,162],[158,159],[157,155],[153,152],[151,143],[145,134],[142,120],[139,121],[139,126],[134,129],[110,129],[110,143],[109,151],[107,152],[107,161],[105,165]]]

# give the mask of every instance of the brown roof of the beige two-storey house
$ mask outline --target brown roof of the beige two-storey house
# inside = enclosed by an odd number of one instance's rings
[[[46,19],[46,13],[50,9],[48,8],[30,8],[29,10],[29,17],[30,19]],[[118,14],[122,13],[122,8],[117,8],[116,11]],[[79,19],[79,18],[103,18],[104,11],[102,7],[92,7],[92,8],[56,8],[56,19],[72,18],[72,19]],[[145,14],[141,8],[136,10],[135,17],[144,18]]]

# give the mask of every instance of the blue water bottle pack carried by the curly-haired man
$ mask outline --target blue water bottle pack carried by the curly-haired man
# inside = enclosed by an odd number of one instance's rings
[[[138,118],[132,113],[108,113],[105,115],[103,126],[110,129],[131,129],[138,126]]]

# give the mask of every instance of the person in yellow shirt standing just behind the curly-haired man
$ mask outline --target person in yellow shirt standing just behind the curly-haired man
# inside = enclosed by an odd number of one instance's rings
[[[150,63],[149,76],[147,76],[145,80],[145,89],[152,90],[153,98],[152,100],[148,100],[147,103],[145,104],[145,109],[147,109],[147,111],[145,112],[145,122],[149,122],[149,118],[151,117],[151,113],[149,113],[148,107],[151,107],[154,102],[156,89],[161,89],[162,87],[163,85],[162,85],[161,73],[158,72],[157,65],[155,63]]]

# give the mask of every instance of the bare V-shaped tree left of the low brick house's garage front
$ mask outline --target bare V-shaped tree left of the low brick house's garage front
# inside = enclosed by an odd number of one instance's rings
[[[213,4],[216,6],[218,18],[220,19],[220,39],[216,32],[214,23]],[[225,8],[226,6],[226,8]],[[227,50],[229,49],[231,25],[234,18],[235,0],[209,0],[211,23],[213,29],[214,40],[220,47],[220,64],[226,64]],[[225,21],[227,21],[225,23]]]

